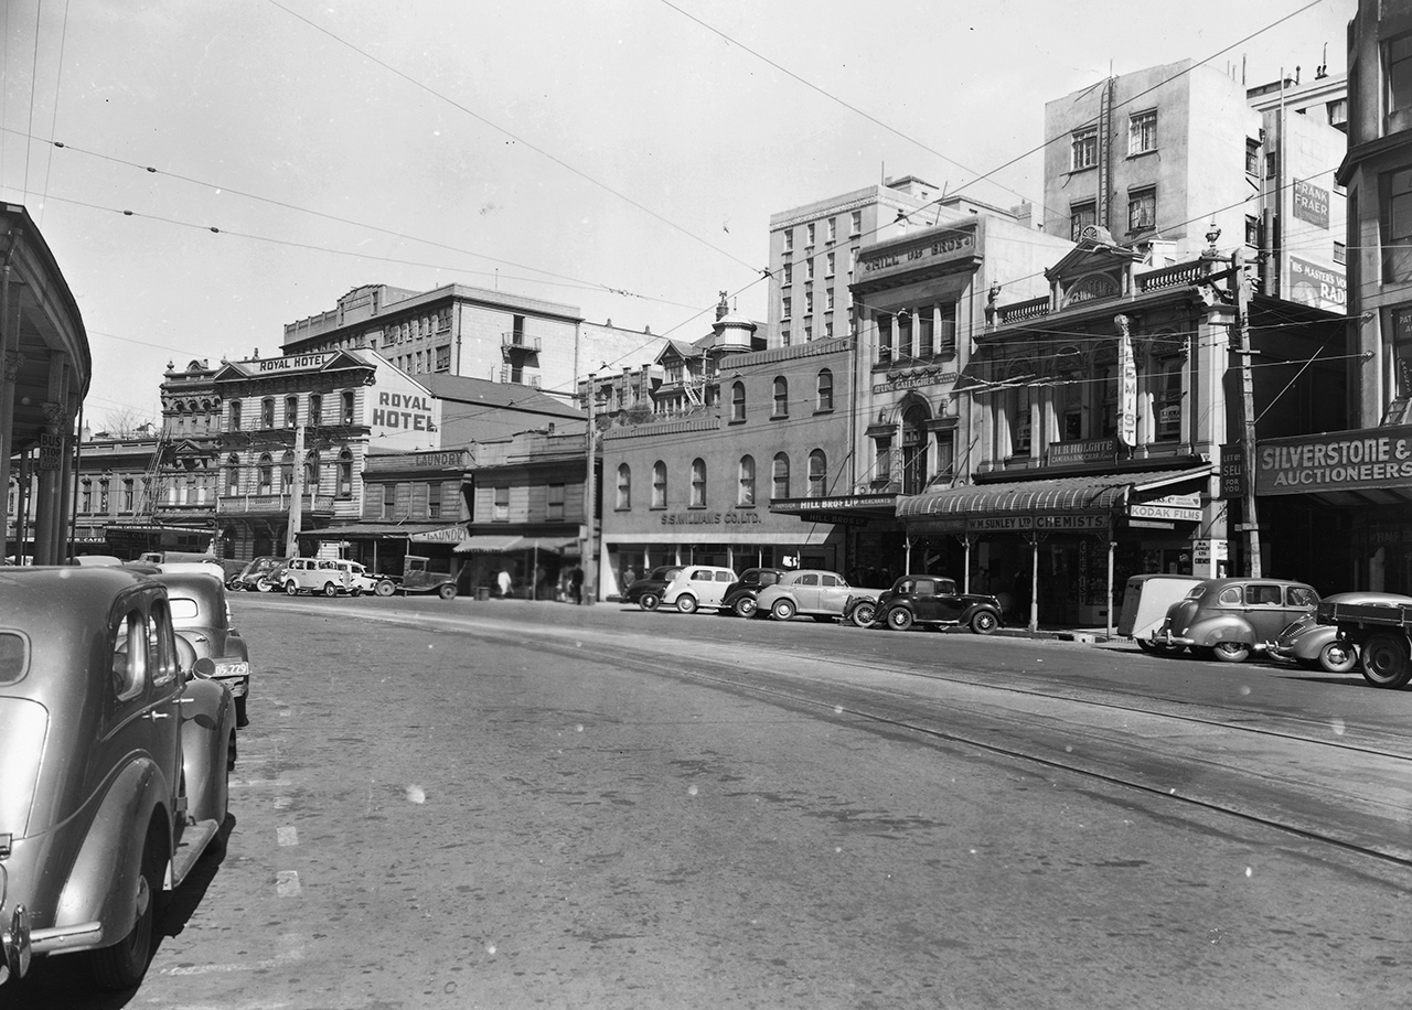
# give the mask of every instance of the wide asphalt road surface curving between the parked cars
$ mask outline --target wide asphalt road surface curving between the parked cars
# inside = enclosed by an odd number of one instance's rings
[[[1125,646],[236,597],[229,848],[11,1004],[1402,1007],[1412,691]]]

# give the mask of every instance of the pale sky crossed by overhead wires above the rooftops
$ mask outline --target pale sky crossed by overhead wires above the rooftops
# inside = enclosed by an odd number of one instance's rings
[[[1045,102],[1186,58],[1343,73],[1356,8],[6,0],[0,199],[78,300],[100,430],[364,284],[685,340],[722,291],[764,320],[772,213],[904,175],[1038,206]]]

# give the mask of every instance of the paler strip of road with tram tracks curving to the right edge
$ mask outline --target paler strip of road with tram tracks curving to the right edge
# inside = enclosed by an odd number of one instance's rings
[[[309,608],[328,612],[328,607]],[[350,611],[352,612],[352,611]],[[525,625],[466,615],[357,612],[525,646]],[[1412,755],[1340,741],[1312,719],[1221,710],[1173,711],[1106,698],[1097,688],[1043,690],[947,676],[875,657],[813,655],[772,643],[682,642],[611,628],[535,626],[534,647],[668,676],[955,752],[1022,762],[1286,832],[1308,842],[1412,866]],[[1073,647],[1073,646],[1066,646]],[[669,663],[664,663],[669,659]],[[1258,717],[1269,725],[1252,725]]]

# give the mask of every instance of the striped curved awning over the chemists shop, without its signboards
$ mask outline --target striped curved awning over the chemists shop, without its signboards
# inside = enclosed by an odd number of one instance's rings
[[[987,516],[1106,516],[1132,498],[1149,492],[1199,485],[1210,464],[1186,470],[1124,474],[1083,474],[1039,481],[940,488],[899,498],[897,516],[908,523],[928,519],[984,519]]]

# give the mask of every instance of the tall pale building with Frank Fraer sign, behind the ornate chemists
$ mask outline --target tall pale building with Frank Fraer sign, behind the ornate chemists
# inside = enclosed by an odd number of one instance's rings
[[[1344,96],[1323,68],[1245,89],[1183,59],[1049,102],[1045,230],[1096,224],[1162,267],[1214,226],[1260,258],[1262,293],[1341,312]]]

